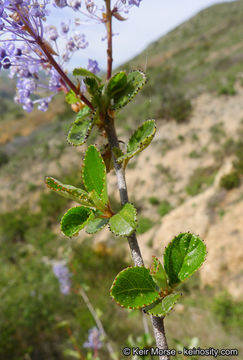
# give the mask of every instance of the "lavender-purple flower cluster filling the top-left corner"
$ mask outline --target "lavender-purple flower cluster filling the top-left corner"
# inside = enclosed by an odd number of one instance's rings
[[[28,112],[34,104],[46,111],[57,92],[68,90],[50,57],[62,68],[75,51],[88,46],[84,34],[69,35],[70,24],[61,23],[60,34],[55,26],[44,26],[49,2],[0,0],[0,69],[9,70],[10,78],[17,78],[15,101]]]

